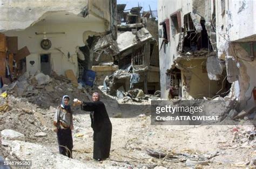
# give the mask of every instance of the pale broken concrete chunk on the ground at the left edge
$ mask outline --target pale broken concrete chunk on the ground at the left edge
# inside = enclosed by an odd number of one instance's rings
[[[5,129],[1,131],[3,140],[21,140],[25,141],[25,136],[22,133],[19,133],[14,130]]]

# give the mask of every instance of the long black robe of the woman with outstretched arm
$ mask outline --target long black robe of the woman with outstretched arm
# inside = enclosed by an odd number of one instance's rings
[[[91,111],[91,127],[93,129],[93,158],[109,158],[112,124],[103,102],[83,102],[81,109]]]

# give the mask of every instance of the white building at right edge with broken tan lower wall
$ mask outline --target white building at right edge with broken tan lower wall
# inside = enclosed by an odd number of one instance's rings
[[[250,112],[256,100],[256,2],[223,0],[215,6],[218,58],[226,63],[230,96]]]

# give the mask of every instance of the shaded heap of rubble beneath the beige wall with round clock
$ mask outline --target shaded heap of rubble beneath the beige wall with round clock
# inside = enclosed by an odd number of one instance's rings
[[[98,91],[97,88],[92,87],[75,87],[70,82],[69,79],[53,73],[50,77],[40,72],[35,73],[35,75],[29,75],[26,72],[16,82],[4,85],[2,93],[6,92],[14,97],[25,98],[28,102],[43,109],[49,109],[50,106],[59,105],[64,95],[88,100],[88,93]]]

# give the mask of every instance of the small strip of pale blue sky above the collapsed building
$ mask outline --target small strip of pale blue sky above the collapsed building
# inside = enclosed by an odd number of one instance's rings
[[[117,0],[117,4],[126,4],[125,9],[137,7],[138,3],[142,6],[142,11],[149,11],[149,5],[152,11],[157,10],[157,0]]]

